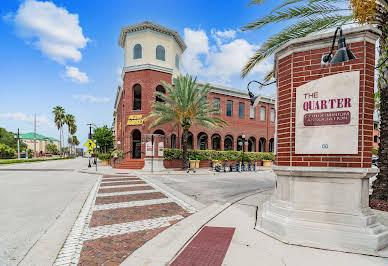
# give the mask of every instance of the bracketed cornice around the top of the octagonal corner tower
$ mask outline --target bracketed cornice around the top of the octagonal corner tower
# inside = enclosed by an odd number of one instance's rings
[[[139,24],[135,24],[132,26],[122,27],[120,31],[120,38],[119,38],[119,45],[124,48],[125,45],[125,37],[127,36],[127,33],[142,31],[142,30],[153,30],[168,36],[171,36],[174,38],[174,40],[177,42],[179,47],[182,49],[182,53],[186,50],[187,46],[185,42],[180,37],[179,33],[171,30],[169,28],[163,27],[161,25],[152,23],[152,22],[142,22]]]

